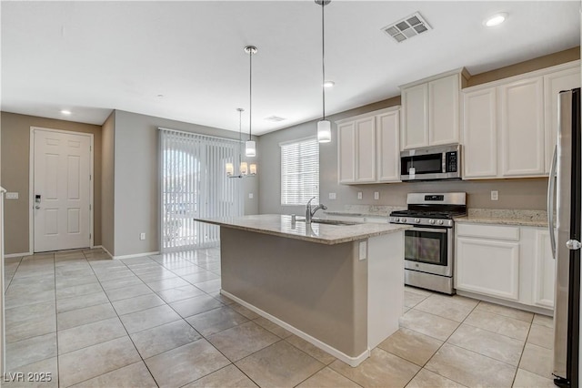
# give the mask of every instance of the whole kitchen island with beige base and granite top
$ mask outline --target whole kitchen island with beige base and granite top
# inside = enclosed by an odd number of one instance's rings
[[[220,226],[221,293],[356,366],[398,329],[404,230],[291,216],[197,219]]]

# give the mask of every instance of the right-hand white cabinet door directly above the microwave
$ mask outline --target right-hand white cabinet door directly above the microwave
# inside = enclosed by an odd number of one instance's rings
[[[459,76],[428,83],[428,144],[458,143]]]

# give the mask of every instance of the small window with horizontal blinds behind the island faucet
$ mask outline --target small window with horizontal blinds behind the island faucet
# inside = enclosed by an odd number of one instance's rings
[[[281,143],[281,205],[319,202],[319,144],[316,138]]]

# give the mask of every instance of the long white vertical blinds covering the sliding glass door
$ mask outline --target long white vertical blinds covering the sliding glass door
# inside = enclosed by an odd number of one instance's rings
[[[163,251],[216,246],[219,227],[194,218],[243,215],[241,179],[226,177],[240,143],[160,129],[161,247]]]

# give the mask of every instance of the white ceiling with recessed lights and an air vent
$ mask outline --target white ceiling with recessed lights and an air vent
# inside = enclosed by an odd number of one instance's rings
[[[341,1],[326,6],[326,113],[580,45],[578,1]],[[397,44],[381,30],[419,11],[433,30]],[[507,12],[507,22],[482,25]],[[102,124],[111,109],[238,130],[254,45],[253,133],[321,115],[321,8],[312,0],[5,2],[2,110]],[[163,97],[158,97],[163,95]],[[61,109],[73,112],[64,117]],[[273,123],[266,117],[285,117]]]

